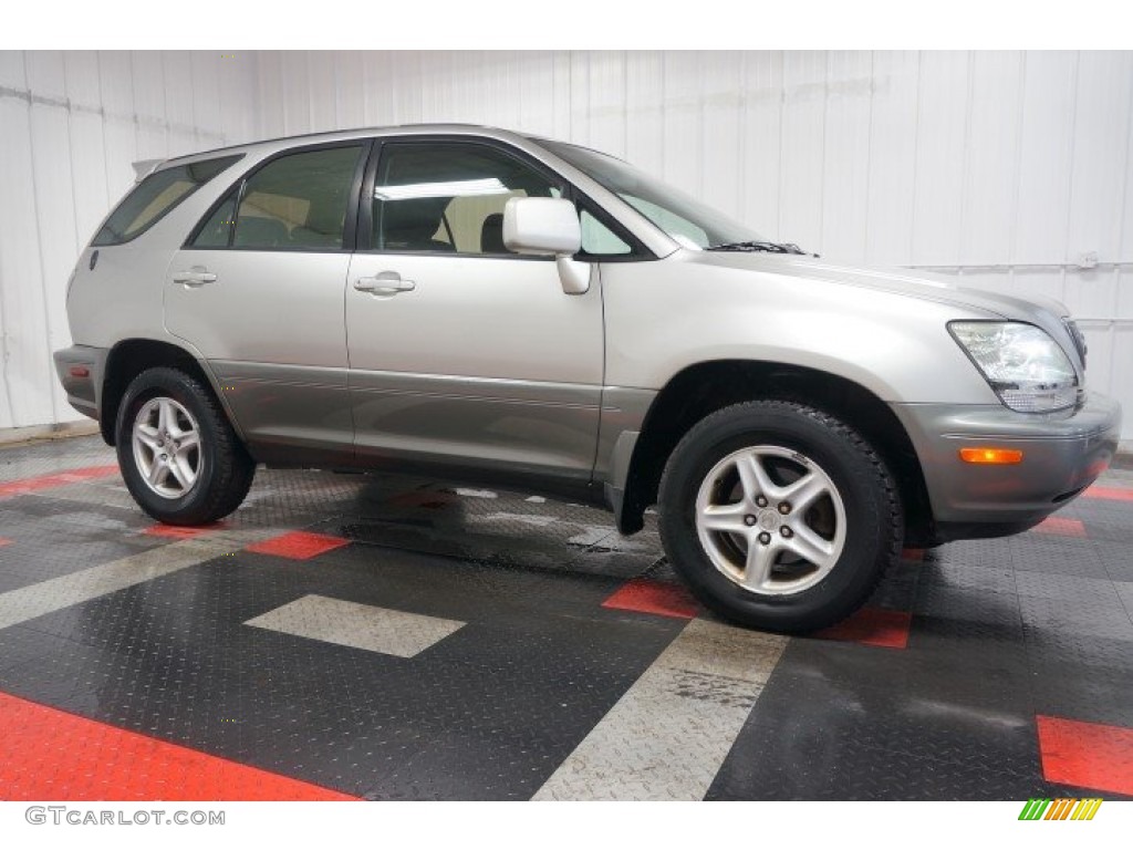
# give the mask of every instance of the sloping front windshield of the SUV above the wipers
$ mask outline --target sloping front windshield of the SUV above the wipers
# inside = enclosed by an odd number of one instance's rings
[[[539,139],[539,144],[585,171],[687,248],[766,243],[747,224],[666,186],[628,162],[563,142]]]

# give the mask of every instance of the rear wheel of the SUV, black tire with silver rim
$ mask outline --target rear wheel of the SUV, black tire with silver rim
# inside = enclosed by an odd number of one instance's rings
[[[114,427],[130,495],[161,522],[194,526],[235,511],[255,462],[216,399],[180,369],[146,369],[130,382]]]

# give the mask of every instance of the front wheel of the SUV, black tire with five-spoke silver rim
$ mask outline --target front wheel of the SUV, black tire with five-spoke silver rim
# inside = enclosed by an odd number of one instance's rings
[[[735,405],[695,425],[658,507],[665,551],[697,598],[759,629],[837,622],[901,554],[884,461],[845,423],[793,402]]]

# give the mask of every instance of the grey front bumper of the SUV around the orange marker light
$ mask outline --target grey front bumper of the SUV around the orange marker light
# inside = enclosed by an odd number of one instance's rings
[[[996,405],[893,405],[925,473],[937,537],[1024,530],[1066,504],[1106,470],[1117,451],[1122,408],[1091,393],[1076,410],[1019,414]],[[1019,449],[1023,461],[982,466],[964,448]]]

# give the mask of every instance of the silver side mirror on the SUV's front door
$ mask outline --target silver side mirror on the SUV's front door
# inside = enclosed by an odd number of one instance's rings
[[[503,207],[503,244],[517,254],[553,256],[566,295],[590,289],[588,263],[572,258],[582,248],[578,210],[565,198],[513,197]]]

